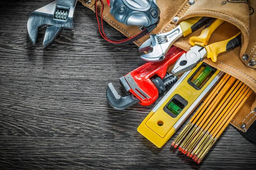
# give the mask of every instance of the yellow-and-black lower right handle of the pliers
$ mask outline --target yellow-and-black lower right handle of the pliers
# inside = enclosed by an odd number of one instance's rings
[[[236,34],[235,36],[231,37],[228,40],[224,40],[221,42],[215,42],[213,44],[207,45],[207,58],[212,59],[213,62],[217,61],[218,54],[236,48],[241,44],[241,32]]]

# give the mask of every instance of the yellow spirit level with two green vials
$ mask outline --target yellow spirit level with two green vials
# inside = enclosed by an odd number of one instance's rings
[[[222,75],[222,71],[200,62],[192,71],[180,77],[143,120],[137,129],[138,132],[157,147],[162,147]]]

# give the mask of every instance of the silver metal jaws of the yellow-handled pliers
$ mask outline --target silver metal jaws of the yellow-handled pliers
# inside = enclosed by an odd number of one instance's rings
[[[204,47],[200,45],[195,45],[190,48],[186,54],[184,53],[175,63],[174,68],[172,69],[172,74],[178,76],[189,70],[192,70],[196,65],[203,61],[207,56],[207,51]]]

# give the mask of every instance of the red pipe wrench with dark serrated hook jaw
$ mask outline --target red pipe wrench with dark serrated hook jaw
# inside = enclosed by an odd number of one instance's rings
[[[167,69],[184,53],[186,51],[173,46],[163,61],[147,62],[119,78],[127,96],[120,96],[109,83],[106,91],[109,104],[116,110],[124,110],[137,102],[144,106],[153,104],[167,86],[177,81],[177,77],[167,73]]]

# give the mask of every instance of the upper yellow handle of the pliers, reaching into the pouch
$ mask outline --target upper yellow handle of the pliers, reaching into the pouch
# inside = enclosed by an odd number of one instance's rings
[[[191,37],[189,39],[189,43],[192,46],[195,45],[201,45],[205,46],[208,44],[208,41],[212,35],[212,33],[215,31],[218,26],[220,26],[222,23],[224,23],[223,20],[220,19],[212,19],[212,22],[210,21],[204,28],[204,30],[201,32],[201,34],[198,37]]]

